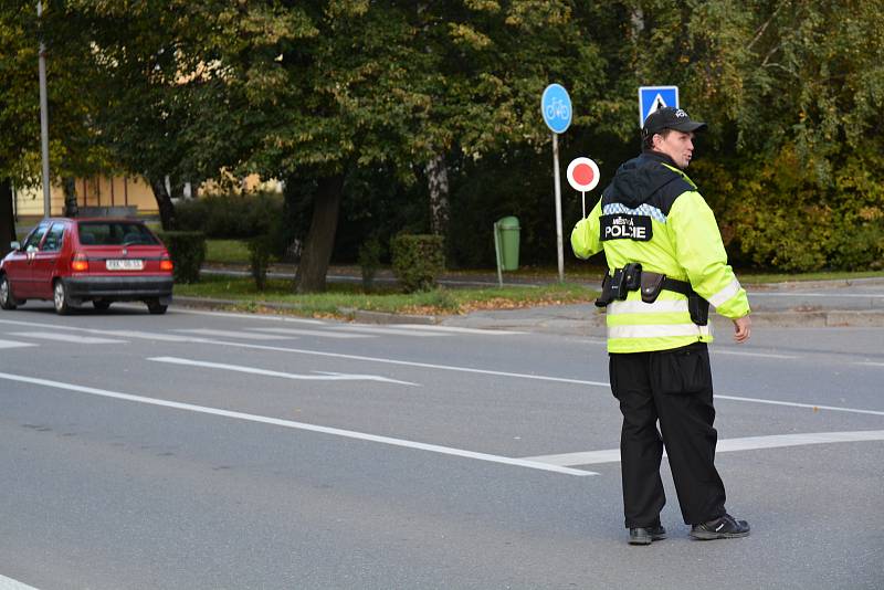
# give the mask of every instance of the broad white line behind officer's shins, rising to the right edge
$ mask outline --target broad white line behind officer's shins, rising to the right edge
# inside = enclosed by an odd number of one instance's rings
[[[859,430],[852,432],[810,432],[806,434],[774,434],[770,436],[745,436],[718,441],[716,453],[735,451],[755,451],[757,449],[779,449],[782,446],[803,446],[807,444],[829,444],[842,442],[884,441],[884,430]],[[665,456],[665,453],[663,453]],[[599,463],[619,463],[620,449],[588,451],[586,453],[565,453],[561,455],[541,455],[525,457],[525,461],[549,463],[560,467],[577,465],[598,465]]]

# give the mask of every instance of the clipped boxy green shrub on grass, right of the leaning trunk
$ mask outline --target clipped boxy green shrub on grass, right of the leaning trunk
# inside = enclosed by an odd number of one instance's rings
[[[445,270],[441,235],[401,233],[390,241],[393,274],[406,293],[428,291]]]

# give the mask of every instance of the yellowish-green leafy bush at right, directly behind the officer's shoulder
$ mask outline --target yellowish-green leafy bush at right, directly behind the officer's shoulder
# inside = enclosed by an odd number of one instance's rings
[[[704,164],[694,178],[709,187],[729,251],[782,271],[875,270],[884,261],[884,187],[873,181],[884,157],[850,154],[832,183],[815,181],[814,160],[787,145],[754,166]]]

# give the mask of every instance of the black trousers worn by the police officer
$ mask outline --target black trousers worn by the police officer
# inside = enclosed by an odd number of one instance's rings
[[[695,525],[723,516],[725,486],[715,468],[718,433],[713,428],[706,344],[612,354],[610,377],[623,414],[620,457],[627,528],[660,521],[666,504],[660,478],[664,445],[684,521]]]

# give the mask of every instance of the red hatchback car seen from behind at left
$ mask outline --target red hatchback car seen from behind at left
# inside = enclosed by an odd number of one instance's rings
[[[45,219],[12,242],[0,261],[0,307],[51,299],[59,314],[85,302],[140,301],[164,314],[172,298],[172,262],[162,242],[130,219]]]

